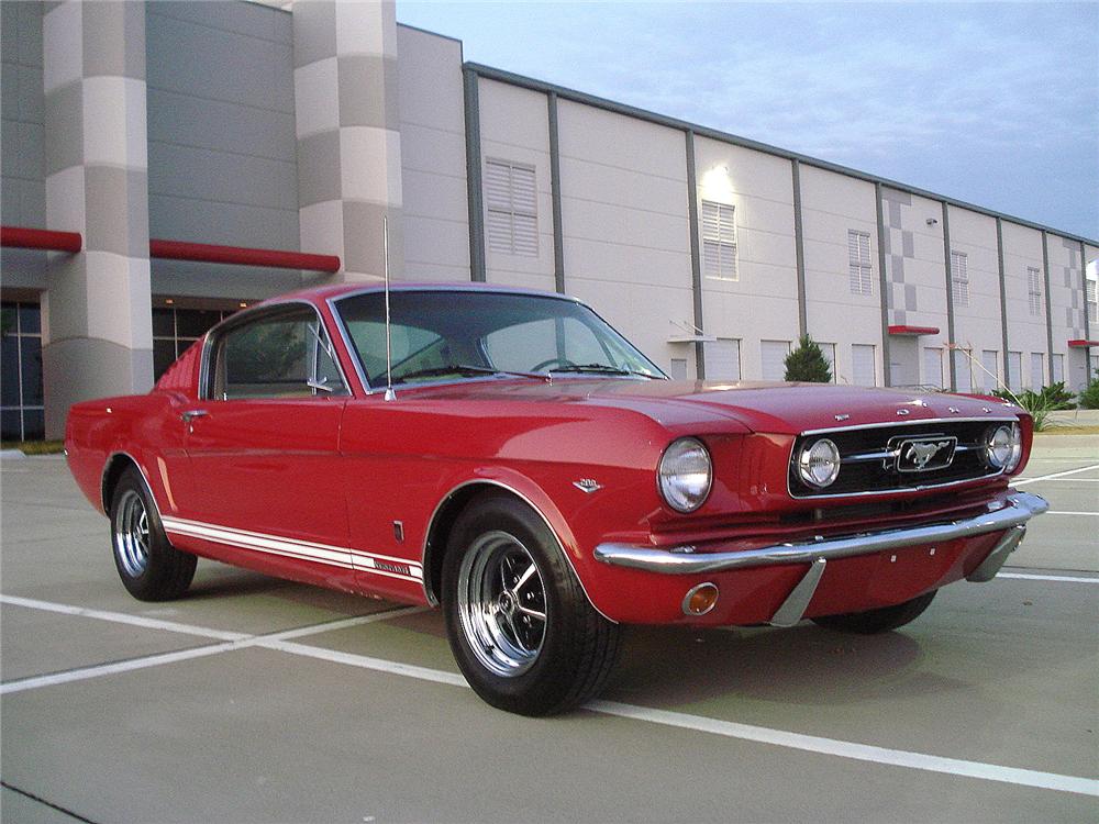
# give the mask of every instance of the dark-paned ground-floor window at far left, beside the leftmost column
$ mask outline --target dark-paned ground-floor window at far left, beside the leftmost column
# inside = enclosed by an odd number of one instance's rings
[[[41,439],[46,430],[42,404],[42,310],[37,303],[4,301],[0,318],[3,439]]]

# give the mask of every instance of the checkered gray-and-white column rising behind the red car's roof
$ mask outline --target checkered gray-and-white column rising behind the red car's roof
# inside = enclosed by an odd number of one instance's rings
[[[334,280],[403,271],[397,18],[392,0],[298,0],[293,94],[301,248],[338,255]]]

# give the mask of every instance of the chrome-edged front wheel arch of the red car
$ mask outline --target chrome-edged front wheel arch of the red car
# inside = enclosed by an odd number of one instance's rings
[[[428,530],[424,533],[423,542],[423,591],[428,603],[432,606],[437,606],[440,603],[439,593],[442,589],[443,558],[446,556],[446,539],[449,536],[451,528],[467,506],[477,498],[488,493],[507,494],[534,512],[546,525],[546,528],[550,530],[550,534],[553,535],[554,541],[557,543],[557,548],[560,549],[562,555],[568,561],[568,566],[573,570],[573,575],[576,576],[576,580],[580,584],[580,590],[584,592],[584,597],[588,603],[591,604],[591,608],[608,621],[618,623],[603,614],[595,601],[591,600],[591,595],[588,594],[588,590],[584,586],[584,579],[576,569],[573,553],[569,552],[574,544],[571,532],[556,508],[553,508],[552,503],[546,501],[546,509],[552,508],[552,514],[547,514],[543,506],[540,506],[535,502],[533,494],[526,494],[523,490],[518,489],[515,485],[493,478],[478,478],[464,481],[447,492],[435,506],[435,511],[428,522]],[[559,526],[554,524],[554,521],[558,519],[560,521]]]

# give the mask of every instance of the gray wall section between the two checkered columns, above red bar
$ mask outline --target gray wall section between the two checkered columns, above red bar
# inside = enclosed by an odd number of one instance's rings
[[[153,237],[299,247],[289,16],[242,2],[147,7]],[[160,291],[169,271],[154,261]]]

